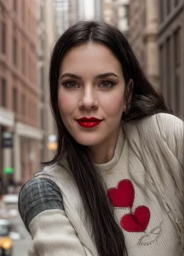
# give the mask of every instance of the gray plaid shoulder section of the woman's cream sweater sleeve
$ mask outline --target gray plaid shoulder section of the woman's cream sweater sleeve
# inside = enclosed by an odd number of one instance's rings
[[[50,209],[64,210],[61,191],[55,182],[47,178],[33,178],[20,190],[18,209],[29,231],[30,222],[40,212]]]

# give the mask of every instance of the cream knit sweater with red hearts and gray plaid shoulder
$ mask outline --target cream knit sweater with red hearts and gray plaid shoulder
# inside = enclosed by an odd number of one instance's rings
[[[184,255],[183,132],[183,122],[169,114],[124,123],[113,159],[96,165],[129,256]],[[62,165],[45,167],[20,192],[20,215],[33,238],[28,255],[98,255],[78,189]]]

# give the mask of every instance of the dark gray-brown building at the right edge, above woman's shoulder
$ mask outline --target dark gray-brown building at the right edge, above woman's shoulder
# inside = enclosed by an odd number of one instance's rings
[[[160,88],[184,119],[184,1],[159,0]]]

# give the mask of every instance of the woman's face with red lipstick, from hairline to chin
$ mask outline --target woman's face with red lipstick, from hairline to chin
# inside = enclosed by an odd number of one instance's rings
[[[67,52],[60,67],[58,104],[78,143],[94,146],[118,135],[124,89],[120,62],[106,46],[90,43]]]

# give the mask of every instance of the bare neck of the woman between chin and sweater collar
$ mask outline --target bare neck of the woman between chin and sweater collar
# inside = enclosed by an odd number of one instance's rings
[[[90,151],[94,157],[94,163],[103,164],[111,161],[114,156],[116,143],[118,140],[120,126],[102,143],[90,146]]]

